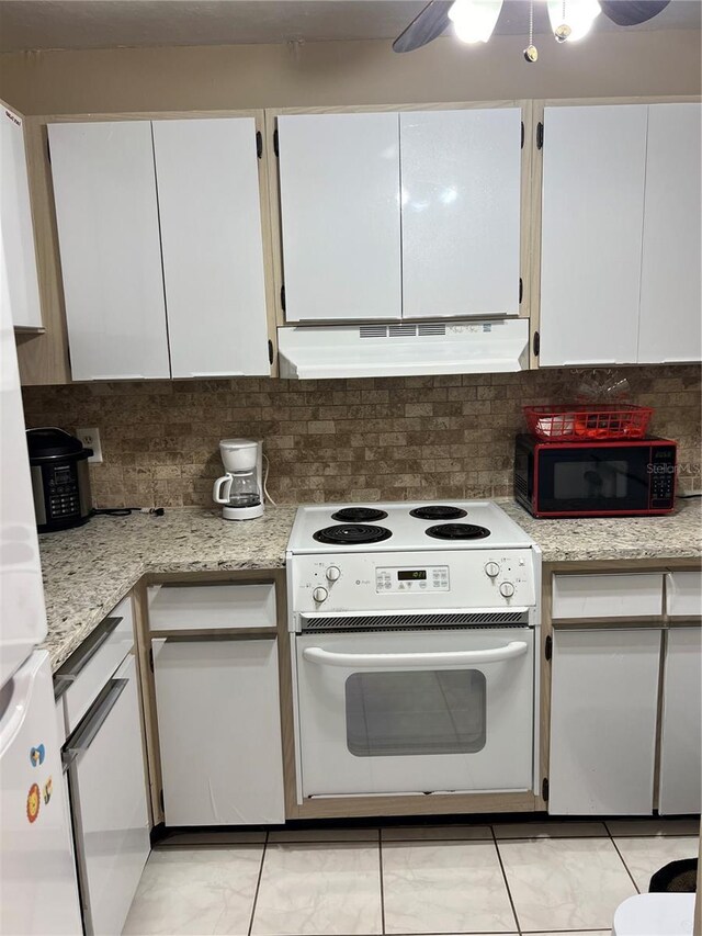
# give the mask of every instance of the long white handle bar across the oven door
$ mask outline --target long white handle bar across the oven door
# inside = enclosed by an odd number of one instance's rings
[[[431,666],[466,666],[472,663],[501,663],[522,656],[529,644],[522,640],[511,641],[507,646],[491,650],[458,650],[445,653],[331,653],[320,646],[306,646],[303,656],[309,663],[321,666],[343,666],[347,669],[407,669]]]

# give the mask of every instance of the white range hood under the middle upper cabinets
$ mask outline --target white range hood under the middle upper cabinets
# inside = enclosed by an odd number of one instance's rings
[[[278,351],[293,380],[523,371],[529,319],[284,326]]]

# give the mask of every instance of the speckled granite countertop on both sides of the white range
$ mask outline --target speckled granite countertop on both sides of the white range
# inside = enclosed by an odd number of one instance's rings
[[[535,520],[498,500],[541,546],[544,562],[697,559],[702,505],[680,500],[668,517]],[[281,568],[295,507],[269,507],[258,520],[223,520],[218,510],[168,509],[162,517],[93,517],[84,527],[39,537],[48,635],[56,670],[147,572]]]

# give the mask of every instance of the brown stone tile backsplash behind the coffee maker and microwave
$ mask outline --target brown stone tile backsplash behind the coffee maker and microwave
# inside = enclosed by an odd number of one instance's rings
[[[591,373],[591,371],[588,371]],[[622,368],[652,431],[700,488],[700,368]],[[139,381],[24,390],[26,424],[100,429],[98,507],[212,506],[218,442],[263,439],[280,504],[511,494],[522,406],[573,401],[582,372],[283,381]]]

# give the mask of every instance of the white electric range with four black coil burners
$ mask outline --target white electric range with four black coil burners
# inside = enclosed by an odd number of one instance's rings
[[[301,507],[298,801],[533,790],[541,554],[496,504]]]

